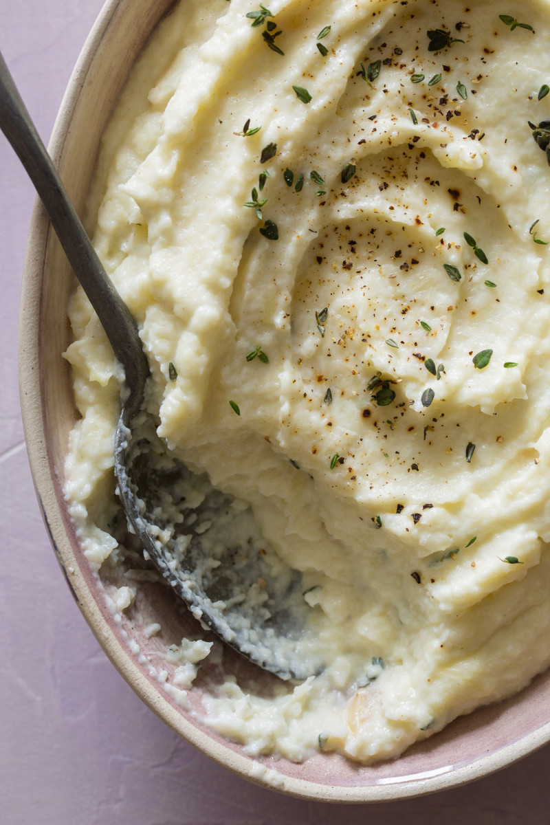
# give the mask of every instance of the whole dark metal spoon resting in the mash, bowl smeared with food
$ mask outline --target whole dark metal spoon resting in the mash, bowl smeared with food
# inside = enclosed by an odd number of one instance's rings
[[[149,376],[138,328],[87,237],[0,54],[0,128],[125,370],[115,431],[117,493],[144,555],[203,625],[284,679],[322,668],[307,625],[301,576],[263,540],[248,507],[190,474],[141,412]],[[145,501],[147,499],[147,502]],[[172,517],[161,521],[161,513]],[[183,517],[182,515],[183,514]],[[228,541],[228,536],[231,540]]]

